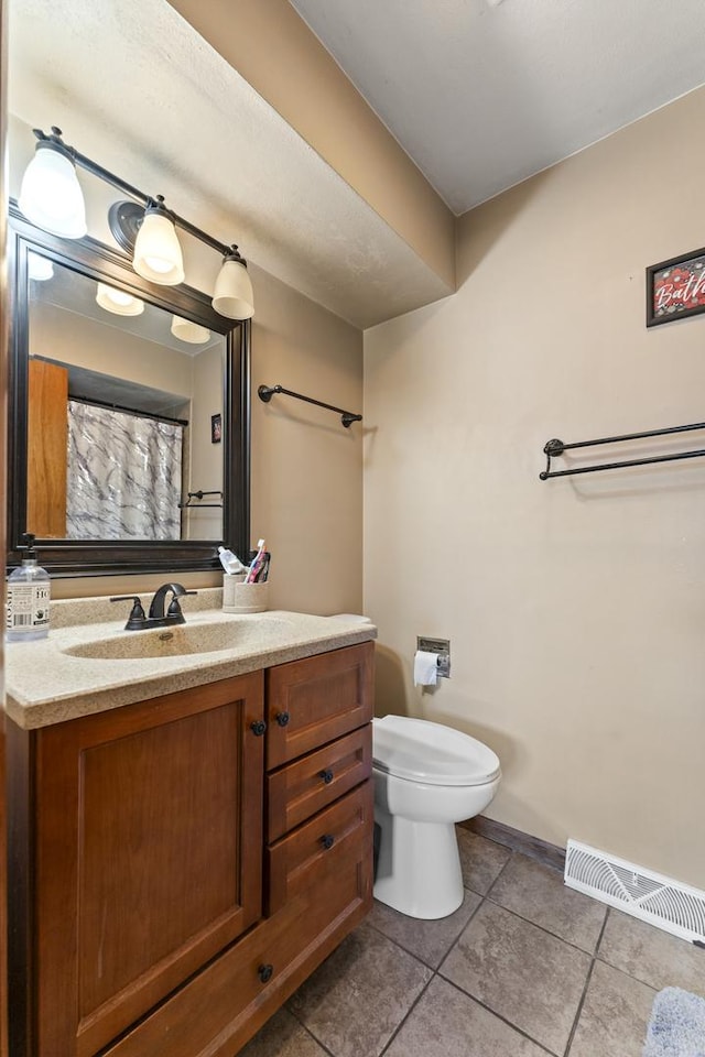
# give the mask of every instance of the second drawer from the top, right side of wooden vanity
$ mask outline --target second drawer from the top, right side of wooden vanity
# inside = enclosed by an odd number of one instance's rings
[[[267,778],[268,840],[279,840],[371,774],[370,723],[286,764]]]

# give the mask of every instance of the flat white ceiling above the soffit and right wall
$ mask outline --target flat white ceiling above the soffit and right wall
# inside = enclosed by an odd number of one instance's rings
[[[703,0],[290,2],[456,214],[705,81]]]

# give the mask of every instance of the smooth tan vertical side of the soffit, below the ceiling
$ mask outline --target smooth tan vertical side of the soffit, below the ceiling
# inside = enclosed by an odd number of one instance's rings
[[[454,216],[289,0],[170,0],[448,286]]]

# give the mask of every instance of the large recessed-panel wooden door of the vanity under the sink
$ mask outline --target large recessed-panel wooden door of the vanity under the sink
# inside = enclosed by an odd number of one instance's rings
[[[39,1054],[88,1057],[261,914],[261,673],[37,733]]]

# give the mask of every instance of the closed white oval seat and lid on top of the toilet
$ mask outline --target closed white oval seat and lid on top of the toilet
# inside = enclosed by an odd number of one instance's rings
[[[408,716],[372,720],[373,765],[425,785],[485,785],[499,777],[499,760],[459,730]]]

